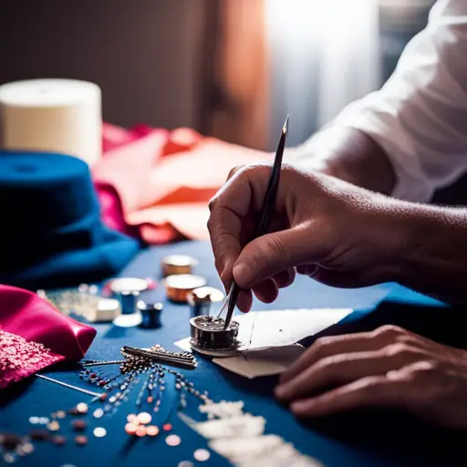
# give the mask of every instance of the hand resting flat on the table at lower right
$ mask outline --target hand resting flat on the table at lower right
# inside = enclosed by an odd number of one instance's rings
[[[300,418],[361,407],[395,407],[467,428],[467,351],[400,327],[321,337],[275,389]]]

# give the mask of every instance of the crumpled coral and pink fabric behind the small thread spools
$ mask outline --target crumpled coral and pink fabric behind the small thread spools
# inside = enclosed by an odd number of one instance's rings
[[[92,169],[102,219],[149,244],[209,238],[208,202],[232,167],[272,158],[191,129],[144,125],[105,124],[103,149]]]

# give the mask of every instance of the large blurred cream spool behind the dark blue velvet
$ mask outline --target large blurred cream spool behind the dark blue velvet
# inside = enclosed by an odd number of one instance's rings
[[[99,86],[75,79],[31,79],[0,86],[0,145],[51,151],[88,163],[102,153]]]

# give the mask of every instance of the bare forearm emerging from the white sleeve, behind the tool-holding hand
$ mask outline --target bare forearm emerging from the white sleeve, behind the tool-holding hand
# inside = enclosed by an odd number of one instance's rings
[[[390,194],[396,179],[384,150],[360,130],[330,127],[292,150],[296,164],[373,192]]]

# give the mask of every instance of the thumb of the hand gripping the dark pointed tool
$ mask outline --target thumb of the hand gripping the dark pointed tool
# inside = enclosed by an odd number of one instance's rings
[[[312,262],[315,248],[309,237],[309,230],[297,226],[254,239],[233,265],[235,282],[242,288],[252,288],[286,269]]]

